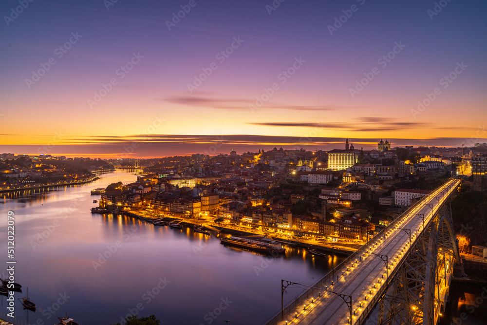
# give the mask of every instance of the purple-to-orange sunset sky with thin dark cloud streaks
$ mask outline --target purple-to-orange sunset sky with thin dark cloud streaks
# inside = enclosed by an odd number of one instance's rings
[[[22,6],[23,5],[23,6]],[[481,0],[3,0],[0,153],[486,142]]]

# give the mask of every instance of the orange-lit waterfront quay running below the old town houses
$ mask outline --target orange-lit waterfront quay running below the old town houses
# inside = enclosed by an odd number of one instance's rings
[[[346,246],[340,246],[339,244],[337,245],[330,245],[330,244],[324,244],[324,243],[316,243],[311,241],[311,240],[305,240],[305,239],[296,239],[296,238],[288,238],[284,236],[280,236],[277,233],[259,233],[256,231],[251,231],[251,229],[235,229],[230,227],[229,225],[222,226],[221,223],[216,223],[212,222],[209,220],[202,220],[202,219],[189,219],[189,218],[181,218],[177,216],[168,216],[168,215],[150,215],[150,216],[143,216],[138,213],[132,212],[124,212],[124,215],[128,215],[140,220],[152,222],[154,219],[158,219],[161,217],[168,218],[168,219],[174,219],[174,220],[181,220],[187,224],[191,225],[197,225],[197,226],[210,226],[212,228],[218,229],[222,232],[230,233],[230,234],[235,234],[238,236],[271,236],[275,241],[280,242],[284,245],[290,245],[290,246],[296,246],[300,248],[306,248],[306,249],[319,249],[322,251],[326,251],[328,253],[333,253],[333,254],[340,254],[344,256],[348,256],[351,253],[355,252],[357,249],[346,247]]]

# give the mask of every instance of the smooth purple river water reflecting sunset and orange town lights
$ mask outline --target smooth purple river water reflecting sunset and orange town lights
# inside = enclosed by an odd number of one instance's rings
[[[136,179],[124,172],[100,177],[91,184],[30,195],[1,194],[0,238],[6,238],[6,215],[13,210],[16,282],[29,287],[38,307],[25,311],[17,301],[17,320],[54,324],[68,312],[81,325],[108,325],[139,306],[139,315],[154,314],[162,324],[208,324],[207,313],[228,297],[232,303],[215,323],[228,319],[232,324],[260,324],[281,306],[281,279],[311,285],[331,269],[331,257],[313,257],[304,249],[288,247],[285,256],[269,259],[225,247],[213,235],[189,228],[92,214],[89,209],[99,195],[90,195],[91,190]],[[6,245],[6,240],[0,243]],[[5,255],[0,256],[5,265]],[[335,257],[335,265],[340,261]],[[168,281],[166,287],[151,292],[160,278]],[[302,289],[287,291],[285,302]],[[57,307],[64,293],[70,298],[50,313],[48,307]],[[6,312],[3,296],[0,310]]]

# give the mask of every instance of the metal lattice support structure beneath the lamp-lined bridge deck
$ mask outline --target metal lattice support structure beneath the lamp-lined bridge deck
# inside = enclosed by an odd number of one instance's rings
[[[391,279],[378,306],[379,325],[434,325],[440,290],[453,263],[460,261],[452,231],[451,209],[443,205],[418,236],[410,255]]]

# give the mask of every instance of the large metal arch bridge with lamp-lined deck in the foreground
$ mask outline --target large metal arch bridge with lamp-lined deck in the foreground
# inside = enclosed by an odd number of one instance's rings
[[[312,286],[281,280],[281,311],[264,324],[436,325],[455,263],[452,178],[423,197]],[[289,286],[304,288],[286,306]]]

